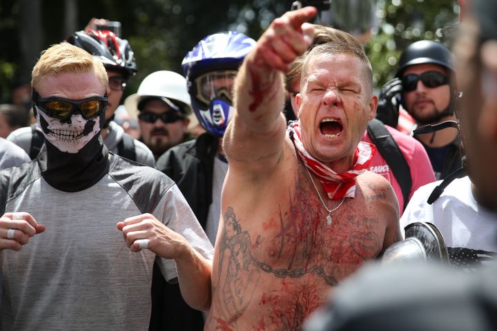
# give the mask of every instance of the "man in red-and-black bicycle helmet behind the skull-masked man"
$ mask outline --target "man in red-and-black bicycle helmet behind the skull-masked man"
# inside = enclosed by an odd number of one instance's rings
[[[129,77],[137,72],[135,56],[126,39],[121,39],[108,30],[77,31],[68,37],[68,43],[82,48],[104,63],[109,83],[107,89],[108,106],[101,137],[104,144],[115,154],[132,161],[155,165],[150,149],[141,141],[133,139],[113,121],[114,112],[121,102]],[[43,144],[43,135],[37,128],[21,128],[12,132],[8,140],[23,148],[34,159]]]

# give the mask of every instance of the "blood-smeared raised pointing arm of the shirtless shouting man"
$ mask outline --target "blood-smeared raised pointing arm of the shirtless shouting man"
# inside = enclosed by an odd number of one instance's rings
[[[230,167],[270,170],[280,159],[286,128],[282,73],[311,44],[313,26],[306,21],[315,14],[313,7],[286,12],[245,58],[235,81],[236,112],[224,134]]]

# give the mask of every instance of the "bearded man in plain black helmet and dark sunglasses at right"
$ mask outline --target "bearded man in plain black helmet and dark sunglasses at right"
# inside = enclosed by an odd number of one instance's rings
[[[456,121],[457,97],[454,58],[449,49],[436,41],[417,41],[402,52],[396,78],[383,86],[377,118],[397,127],[402,104],[418,127]],[[415,137],[427,150],[436,179],[445,179],[461,168],[456,129],[415,132]]]

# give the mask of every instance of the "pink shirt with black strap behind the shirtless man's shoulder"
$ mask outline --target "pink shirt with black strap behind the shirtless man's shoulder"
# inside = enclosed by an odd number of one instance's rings
[[[385,128],[389,130],[390,134],[393,137],[393,140],[396,141],[397,145],[400,148],[400,152],[404,154],[407,164],[409,164],[409,168],[411,169],[412,186],[411,192],[409,192],[409,199],[411,199],[414,191],[418,190],[420,186],[435,181],[435,175],[433,174],[433,168],[431,168],[428,154],[421,143],[413,137],[399,132],[398,130],[391,128],[390,126],[385,126]],[[371,139],[369,138],[369,134],[367,134],[367,132],[364,132],[362,141],[373,143],[373,141],[371,141]],[[377,174],[381,174],[391,183],[393,192],[395,192],[398,199],[400,215],[402,215],[405,203],[404,198],[402,197],[402,190],[400,189],[400,185],[393,175],[393,172],[390,170],[387,161],[383,159],[382,154],[380,154],[379,151],[376,152],[373,160],[371,160],[371,164],[369,165],[368,170],[376,172]]]

